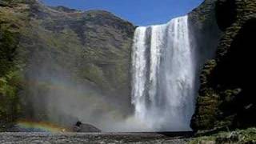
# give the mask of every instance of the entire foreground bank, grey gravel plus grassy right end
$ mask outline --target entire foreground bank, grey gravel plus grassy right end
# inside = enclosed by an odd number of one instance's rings
[[[215,134],[191,133],[0,133],[0,143],[256,143],[256,128],[221,131]]]

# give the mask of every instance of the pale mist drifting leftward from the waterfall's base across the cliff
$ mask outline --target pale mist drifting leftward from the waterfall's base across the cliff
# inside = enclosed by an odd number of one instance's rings
[[[104,94],[94,82],[78,76],[79,55],[67,62],[61,59],[66,56],[50,49],[38,50],[29,59],[26,86],[20,92],[23,118],[67,127],[81,121],[112,132],[145,129],[131,118],[130,107],[120,105],[120,99]]]

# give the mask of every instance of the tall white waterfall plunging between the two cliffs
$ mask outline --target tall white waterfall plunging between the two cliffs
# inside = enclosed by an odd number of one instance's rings
[[[135,118],[153,130],[190,130],[194,113],[194,52],[188,17],[135,30],[132,104]]]

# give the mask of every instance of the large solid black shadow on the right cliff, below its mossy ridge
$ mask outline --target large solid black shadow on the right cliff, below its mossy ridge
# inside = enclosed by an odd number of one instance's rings
[[[254,97],[254,48],[256,19],[246,22],[234,38],[228,53],[214,70],[213,85],[217,90],[232,90],[236,94],[222,96],[222,118],[234,116],[233,126],[255,126],[256,98]],[[224,92],[225,93],[225,92]],[[233,127],[232,126],[232,127]]]

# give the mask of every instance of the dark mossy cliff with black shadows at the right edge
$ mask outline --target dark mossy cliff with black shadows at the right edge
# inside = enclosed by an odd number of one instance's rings
[[[253,49],[256,1],[218,0],[216,18],[223,31],[216,57],[200,76],[194,130],[256,125]]]

